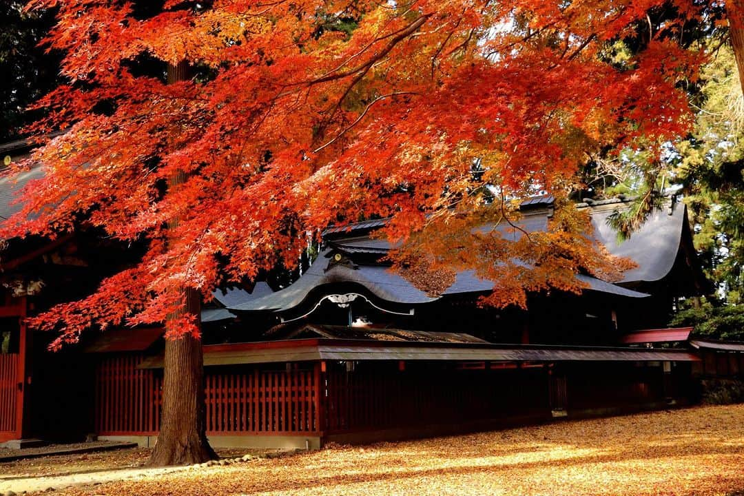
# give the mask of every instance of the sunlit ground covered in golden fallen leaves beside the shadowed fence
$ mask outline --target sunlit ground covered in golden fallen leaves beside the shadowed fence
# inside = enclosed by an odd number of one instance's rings
[[[737,495],[744,405],[335,447],[58,495]]]

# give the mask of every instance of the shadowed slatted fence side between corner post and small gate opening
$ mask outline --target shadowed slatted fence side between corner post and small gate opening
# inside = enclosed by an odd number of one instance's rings
[[[328,434],[463,424],[549,411],[545,370],[458,370],[441,366],[329,364]]]

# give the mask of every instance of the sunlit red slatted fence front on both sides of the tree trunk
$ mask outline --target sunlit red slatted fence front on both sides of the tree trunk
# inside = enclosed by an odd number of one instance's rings
[[[95,430],[99,435],[156,434],[161,371],[138,370],[141,355],[106,356],[97,365]],[[317,367],[260,370],[208,367],[208,434],[299,434],[318,431]]]

